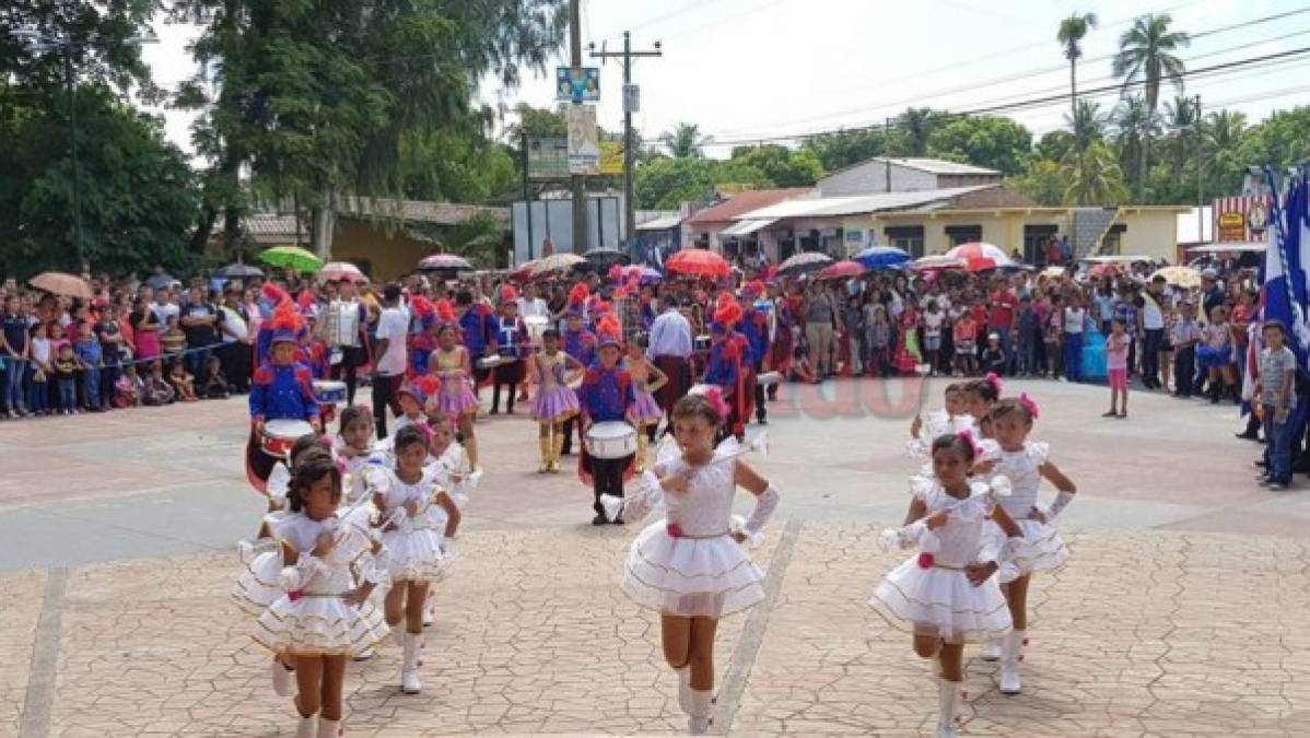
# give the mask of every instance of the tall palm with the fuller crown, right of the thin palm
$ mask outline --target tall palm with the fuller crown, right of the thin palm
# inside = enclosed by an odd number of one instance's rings
[[[1155,114],[1159,84],[1163,80],[1174,83],[1183,92],[1183,60],[1171,52],[1186,49],[1192,39],[1183,31],[1169,30],[1172,21],[1169,13],[1146,14],[1133,21],[1133,28],[1119,37],[1119,54],[1111,64],[1111,73],[1123,77],[1125,93],[1131,85],[1141,81],[1146,92],[1146,110],[1151,115]],[[1138,185],[1146,180],[1145,152],[1149,149],[1150,138],[1146,138],[1142,140],[1142,156],[1137,161]]]

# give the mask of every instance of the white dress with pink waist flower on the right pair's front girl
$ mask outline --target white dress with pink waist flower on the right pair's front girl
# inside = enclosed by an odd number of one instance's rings
[[[964,573],[965,566],[984,556],[982,530],[997,503],[992,488],[973,482],[969,497],[962,501],[947,494],[937,480],[914,477],[910,493],[927,507],[925,516],[950,507],[950,518],[935,531],[921,528],[920,553],[887,574],[874,589],[869,604],[896,628],[948,642],[977,641],[1007,632],[1010,608],[997,577],[973,586]],[[934,545],[927,545],[929,540]],[[927,552],[924,548],[935,549],[930,562],[925,561]]]

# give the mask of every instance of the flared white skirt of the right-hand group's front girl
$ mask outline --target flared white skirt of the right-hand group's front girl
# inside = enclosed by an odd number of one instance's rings
[[[895,628],[950,642],[1001,636],[1011,624],[997,577],[975,587],[963,569],[924,569],[917,554],[887,574],[869,604]]]

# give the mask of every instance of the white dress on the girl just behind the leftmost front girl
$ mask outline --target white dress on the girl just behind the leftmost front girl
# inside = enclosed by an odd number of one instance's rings
[[[431,515],[438,492],[436,475],[426,467],[415,484],[405,484],[393,471],[389,488],[381,493],[385,502],[380,513],[383,545],[390,557],[393,582],[435,583],[449,570],[452,557],[444,551],[445,523],[435,527]],[[418,503],[418,514],[413,518],[405,510],[410,502]]]

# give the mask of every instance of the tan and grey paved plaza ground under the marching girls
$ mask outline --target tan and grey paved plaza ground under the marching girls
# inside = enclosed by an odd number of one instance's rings
[[[1061,520],[1073,556],[1034,581],[1024,693],[969,661],[963,735],[1310,735],[1310,490],[1254,485],[1231,406],[1134,395],[1119,421],[1099,417],[1104,388],[1019,391],[1079,488]],[[719,629],[715,731],[927,734],[929,665],[866,604],[903,556],[876,537],[908,505],[916,385],[785,392],[755,460],[783,493],[755,552],[768,599]],[[575,476],[533,473],[524,416],[478,433],[487,473],[424,692],[398,692],[397,649],[350,665],[348,734],[680,731],[658,617],[617,586],[637,528],[593,528]],[[240,400],[0,423],[0,735],[293,728],[228,600],[263,505],[244,442]]]

